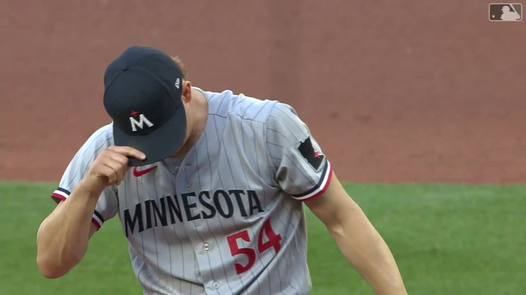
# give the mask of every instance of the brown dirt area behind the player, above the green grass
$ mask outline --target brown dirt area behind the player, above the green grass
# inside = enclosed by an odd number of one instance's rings
[[[107,63],[179,55],[194,85],[292,104],[341,180],[526,179],[526,24],[463,1],[0,1],[0,179],[59,180]]]

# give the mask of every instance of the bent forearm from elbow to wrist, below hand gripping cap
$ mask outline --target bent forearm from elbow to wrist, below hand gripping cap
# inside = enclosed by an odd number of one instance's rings
[[[37,264],[45,277],[64,276],[84,256],[99,195],[79,186],[42,222],[37,233]]]

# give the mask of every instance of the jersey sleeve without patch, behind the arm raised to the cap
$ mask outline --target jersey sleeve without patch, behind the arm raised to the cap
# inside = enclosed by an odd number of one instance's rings
[[[88,140],[74,155],[69,162],[60,183],[51,197],[58,204],[66,201],[73,189],[83,179],[100,151],[113,144],[112,128],[106,125],[93,133]],[[92,222],[97,226],[97,230],[103,225],[105,220],[114,217],[118,211],[117,189],[115,186],[108,186],[100,195]]]

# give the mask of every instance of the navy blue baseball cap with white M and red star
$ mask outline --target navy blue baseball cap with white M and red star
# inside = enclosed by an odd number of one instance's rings
[[[186,114],[181,101],[183,73],[165,52],[133,46],[113,60],[104,73],[104,107],[113,119],[115,145],[144,154],[129,166],[166,159],[183,144]]]

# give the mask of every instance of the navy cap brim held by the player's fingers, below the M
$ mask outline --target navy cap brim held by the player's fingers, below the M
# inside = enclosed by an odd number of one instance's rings
[[[131,146],[144,154],[146,159],[129,157],[128,166],[144,166],[166,159],[175,153],[185,140],[186,113],[182,106],[161,127],[145,135],[129,135],[113,125],[115,145]]]

